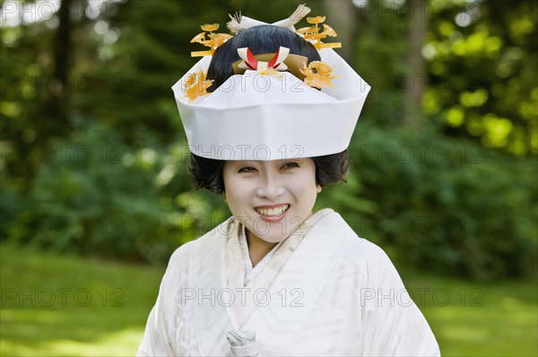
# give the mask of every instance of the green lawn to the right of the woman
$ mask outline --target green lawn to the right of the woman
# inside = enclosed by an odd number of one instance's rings
[[[418,273],[403,276],[441,355],[538,355],[535,278],[486,284]]]

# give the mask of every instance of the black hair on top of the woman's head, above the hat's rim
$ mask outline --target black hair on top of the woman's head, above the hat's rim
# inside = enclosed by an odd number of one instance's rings
[[[239,32],[216,49],[207,70],[207,79],[213,80],[213,85],[207,91],[218,89],[234,74],[231,64],[241,59],[238,48],[248,47],[254,55],[261,55],[276,53],[281,46],[290,48],[292,55],[307,57],[308,64],[321,61],[316,47],[295,32],[278,26],[256,26]]]

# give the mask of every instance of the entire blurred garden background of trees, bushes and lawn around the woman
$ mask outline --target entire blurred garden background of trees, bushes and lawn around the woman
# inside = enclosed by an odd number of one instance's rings
[[[172,251],[230,215],[187,175],[189,41],[302,3],[0,2],[0,354],[134,355]],[[537,3],[308,6],[372,86],[317,208],[387,251],[444,355],[537,355]]]

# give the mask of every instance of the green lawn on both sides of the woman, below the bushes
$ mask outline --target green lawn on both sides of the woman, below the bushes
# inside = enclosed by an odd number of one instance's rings
[[[2,356],[134,355],[164,271],[5,244],[0,264]],[[534,279],[403,276],[444,356],[538,355]]]

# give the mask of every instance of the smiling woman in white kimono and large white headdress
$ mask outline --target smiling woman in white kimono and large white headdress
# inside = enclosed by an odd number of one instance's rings
[[[332,209],[312,212],[345,181],[369,86],[321,43],[335,36],[325,18],[290,30],[308,11],[194,38],[213,56],[173,87],[189,170],[232,217],[173,254],[139,355],[439,354],[386,254]]]

